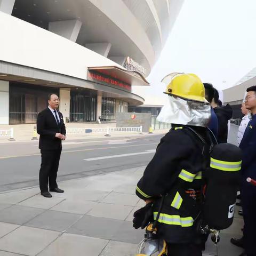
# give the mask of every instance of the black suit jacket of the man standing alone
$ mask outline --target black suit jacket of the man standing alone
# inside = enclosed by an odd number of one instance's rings
[[[58,111],[58,110],[57,110]],[[39,149],[55,150],[61,148],[61,139],[55,137],[56,133],[66,135],[66,127],[62,114],[58,111],[60,125],[58,126],[52,111],[49,108],[44,109],[37,116],[37,133],[40,134]]]

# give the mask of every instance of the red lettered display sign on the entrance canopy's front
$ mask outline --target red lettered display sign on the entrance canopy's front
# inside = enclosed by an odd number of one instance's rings
[[[91,81],[99,81],[99,82],[107,84],[107,85],[114,85],[116,87],[120,87],[129,92],[131,92],[131,90],[132,90],[132,86],[130,84],[119,81],[118,79],[116,79],[114,77],[99,73],[98,71],[94,71],[94,70],[88,71],[87,79],[89,79]]]

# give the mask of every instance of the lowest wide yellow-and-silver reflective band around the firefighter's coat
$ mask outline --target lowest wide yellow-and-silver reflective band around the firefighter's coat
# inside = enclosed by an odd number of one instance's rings
[[[154,212],[154,219],[156,219],[157,214],[158,212]],[[157,221],[167,225],[178,225],[181,227],[191,227],[194,223],[192,217],[180,217],[180,215],[169,215],[165,213],[160,213]]]

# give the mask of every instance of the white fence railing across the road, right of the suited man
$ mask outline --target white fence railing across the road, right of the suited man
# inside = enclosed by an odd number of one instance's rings
[[[84,133],[105,133],[105,136],[110,136],[110,133],[115,132],[139,132],[142,133],[142,126],[138,127],[102,127],[102,128],[69,128],[67,134],[84,134]]]

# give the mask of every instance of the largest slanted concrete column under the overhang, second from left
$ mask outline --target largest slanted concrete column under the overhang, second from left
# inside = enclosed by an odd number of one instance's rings
[[[81,26],[79,20],[53,21],[49,22],[49,31],[76,42]]]

